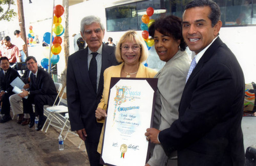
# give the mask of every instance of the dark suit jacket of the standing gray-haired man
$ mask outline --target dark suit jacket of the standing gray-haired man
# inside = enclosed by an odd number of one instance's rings
[[[87,140],[97,143],[102,128],[97,123],[95,110],[103,91],[103,72],[106,68],[117,65],[115,47],[102,45],[102,66],[97,94],[93,90],[88,74],[88,46],[69,56],[67,68],[67,101],[72,131],[86,129]]]

